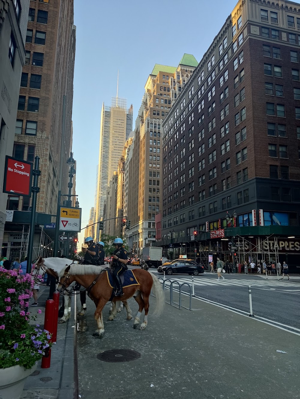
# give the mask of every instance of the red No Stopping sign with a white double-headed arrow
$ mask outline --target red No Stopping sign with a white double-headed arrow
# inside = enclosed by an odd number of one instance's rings
[[[16,196],[31,196],[32,163],[6,155],[3,192]]]

